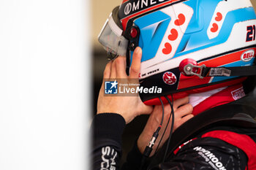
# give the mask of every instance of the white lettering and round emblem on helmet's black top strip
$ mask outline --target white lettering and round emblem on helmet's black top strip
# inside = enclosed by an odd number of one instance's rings
[[[170,1],[170,0],[139,0],[134,2],[129,2],[124,7],[124,14],[129,15],[131,12],[137,12],[141,9],[146,9],[148,7],[154,6],[155,4],[160,4],[163,1]]]

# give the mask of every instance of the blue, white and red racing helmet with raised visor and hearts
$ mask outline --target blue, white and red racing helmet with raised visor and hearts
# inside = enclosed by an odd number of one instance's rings
[[[145,104],[234,85],[255,75],[256,15],[249,0],[124,0],[99,34],[110,54],[143,55],[140,94]],[[165,98],[162,100],[166,102]]]

